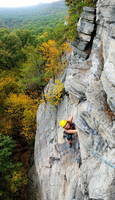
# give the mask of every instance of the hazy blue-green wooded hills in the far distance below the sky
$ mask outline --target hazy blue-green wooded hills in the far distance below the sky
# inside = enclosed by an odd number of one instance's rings
[[[24,28],[40,33],[62,23],[66,12],[64,1],[24,8],[0,8],[0,27]]]

